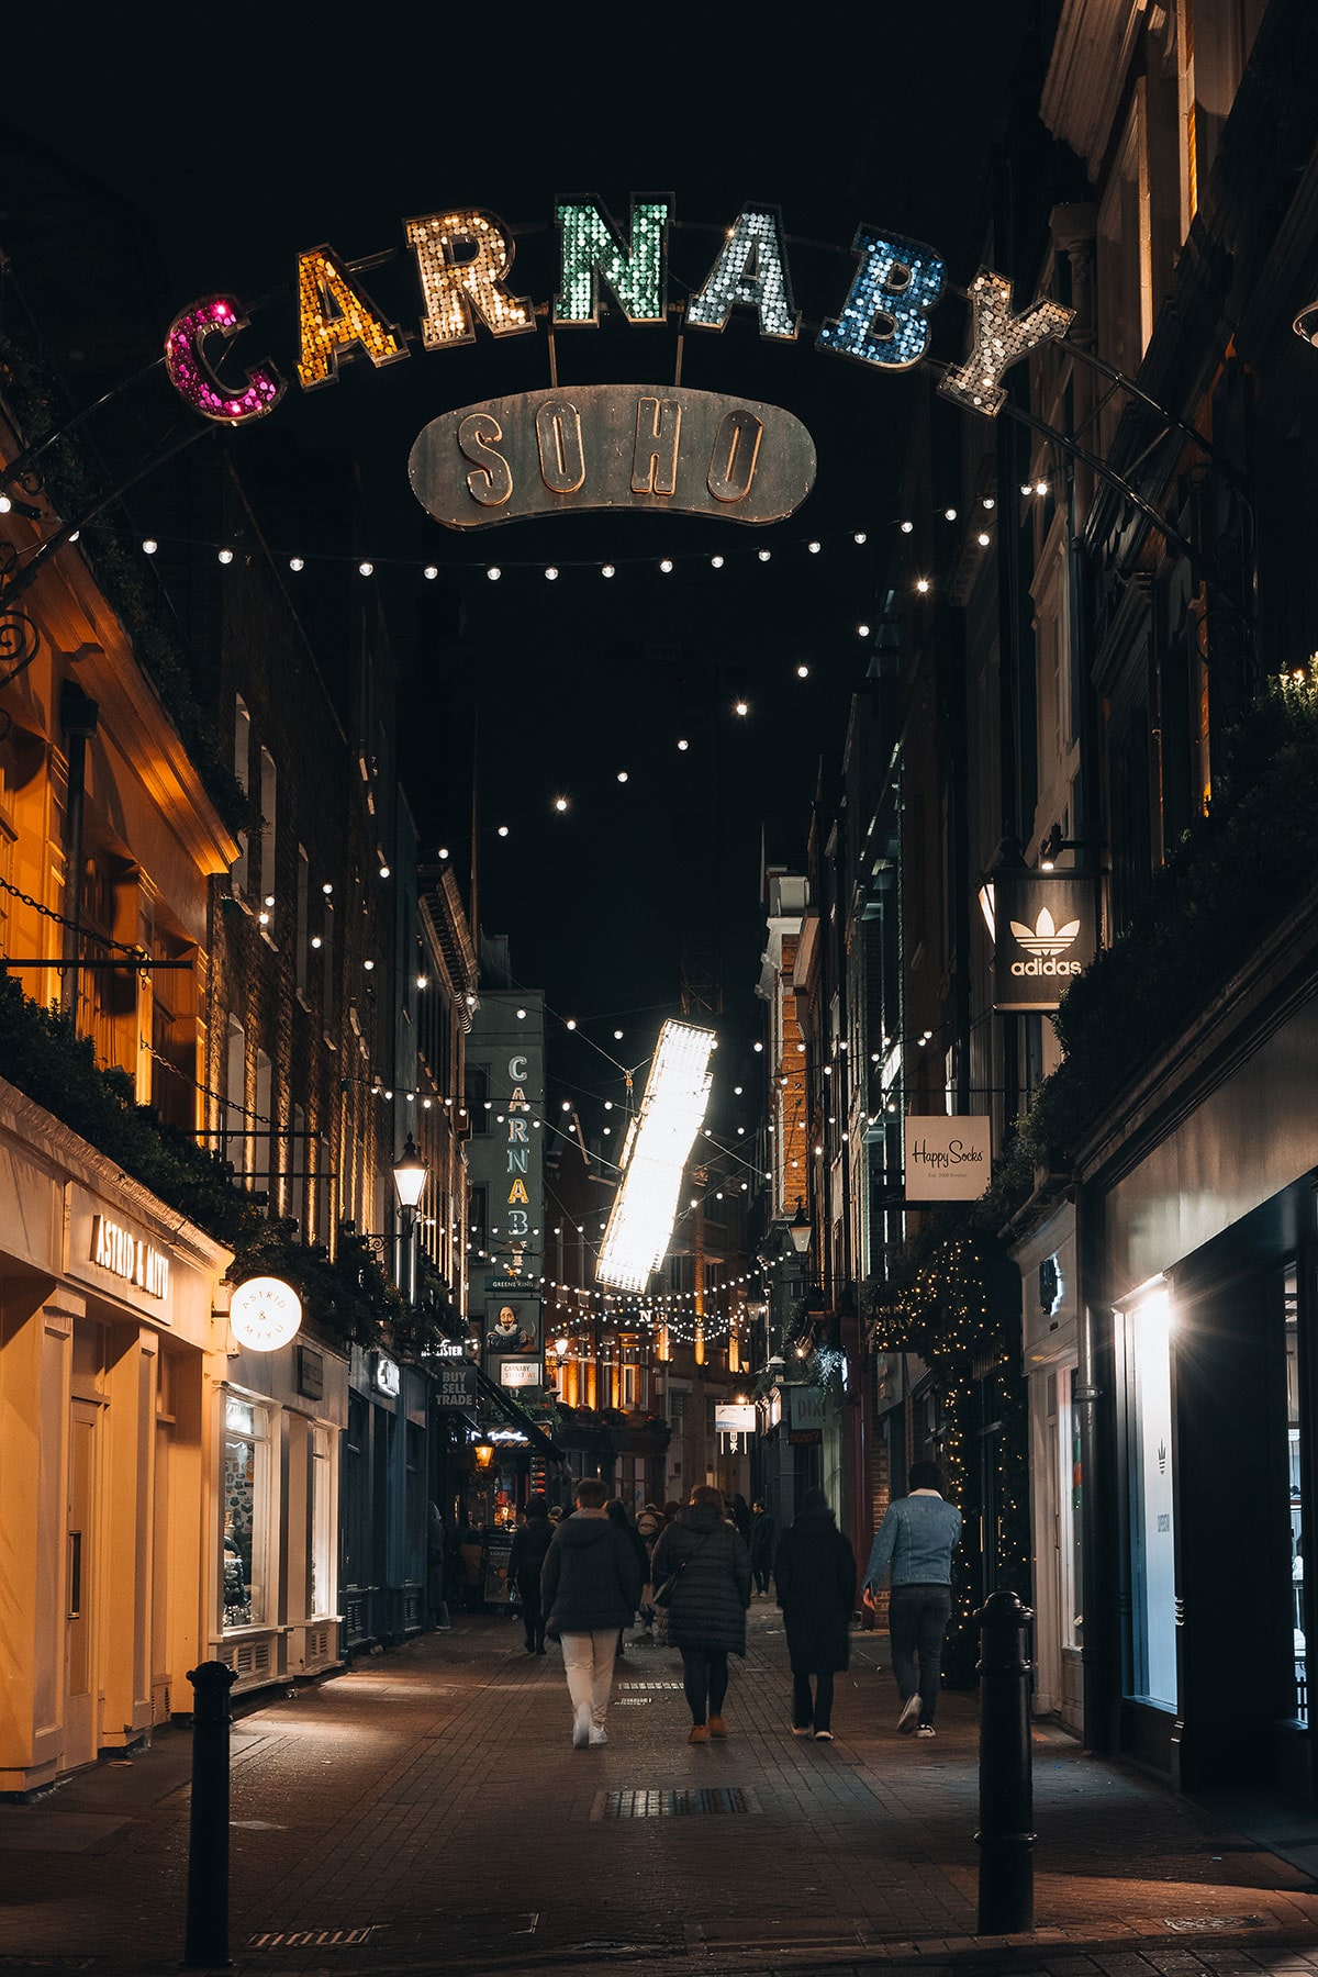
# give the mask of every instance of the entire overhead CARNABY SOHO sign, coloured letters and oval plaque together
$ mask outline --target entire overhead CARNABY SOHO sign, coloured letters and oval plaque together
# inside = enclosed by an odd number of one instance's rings
[[[559,279],[553,302],[518,293],[514,229],[482,208],[462,206],[403,221],[421,314],[395,322],[360,275],[381,257],[346,261],[332,245],[296,257],[296,382],[314,391],[338,382],[340,366],[373,370],[423,352],[492,338],[599,324],[601,302],[628,324],[668,322],[668,235],[672,200],[632,200],[624,231],[599,200],[559,200]],[[824,356],[850,358],[871,374],[905,372],[929,350],[929,316],[945,295],[937,249],[891,227],[862,223],[852,239],[856,271],[836,316],[814,334]],[[755,316],[777,344],[800,340],[788,239],[777,206],[745,206],[725,229],[707,275],[682,310],[684,330],[719,332],[733,310]],[[992,269],[970,285],[966,360],[939,391],[996,417],[1004,374],[1035,344],[1065,336],[1073,310],[1047,299],[1018,310],[1012,283]],[[287,380],[267,360],[241,382],[221,374],[225,346],[247,330],[231,295],[207,295],[170,324],[164,362],[174,389],[204,419],[249,425],[269,417]],[[241,360],[239,360],[241,362]],[[553,378],[553,362],[551,362]],[[788,413],[717,393],[660,386],[585,386],[526,393],[445,413],[421,433],[411,482],[423,506],[449,528],[482,528],[528,514],[585,508],[660,508],[775,522],[792,514],[814,484],[814,447]]]

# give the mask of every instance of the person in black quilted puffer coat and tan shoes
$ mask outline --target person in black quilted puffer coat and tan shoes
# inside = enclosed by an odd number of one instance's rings
[[[751,1554],[723,1516],[723,1493],[709,1483],[654,1546],[654,1591],[668,1591],[668,1645],[682,1649],[682,1686],[692,1710],[688,1744],[725,1738],[727,1657],[745,1655]]]

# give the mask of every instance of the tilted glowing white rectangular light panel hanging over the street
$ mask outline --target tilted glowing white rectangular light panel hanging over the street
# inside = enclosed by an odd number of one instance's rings
[[[666,1022],[636,1125],[622,1149],[622,1184],[613,1198],[595,1275],[620,1291],[644,1291],[668,1253],[692,1145],[705,1121],[713,1030]]]

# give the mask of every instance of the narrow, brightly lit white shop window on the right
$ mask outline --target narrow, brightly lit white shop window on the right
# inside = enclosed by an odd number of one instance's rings
[[[1150,1293],[1126,1313],[1130,1368],[1132,1694],[1176,1708],[1176,1524],[1172,1465],[1172,1301]]]

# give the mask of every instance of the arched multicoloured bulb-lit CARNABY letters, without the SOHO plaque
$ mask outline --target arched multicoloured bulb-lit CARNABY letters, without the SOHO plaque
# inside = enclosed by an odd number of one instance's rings
[[[443,352],[494,338],[545,330],[589,328],[607,299],[626,322],[668,322],[668,233],[672,200],[632,200],[624,231],[599,200],[559,200],[559,279],[551,302],[535,304],[514,279],[514,229],[484,208],[460,206],[403,221],[419,316],[395,322],[370,297],[360,275],[370,263],[350,263],[334,247],[310,247],[296,257],[296,382],[314,391],[338,380],[342,364],[366,360],[373,370],[401,364],[413,350]],[[824,356],[850,358],[871,372],[905,372],[929,350],[929,316],[947,289],[937,249],[883,225],[862,223],[852,239],[856,269],[840,291],[836,314],[814,332]],[[387,257],[385,257],[387,259]],[[759,334],[777,344],[800,340],[802,318],[792,297],[788,241],[777,206],[745,206],[725,227],[713,265],[682,308],[686,330],[719,332],[731,312],[757,318]],[[970,285],[970,344],[964,364],[939,384],[945,397],[994,417],[1004,401],[1002,378],[1035,344],[1063,336],[1073,310],[1033,301],[1016,310],[1006,275],[984,269]],[[287,382],[269,358],[245,374],[221,370],[225,346],[247,328],[231,295],[207,295],[170,324],[164,360],[174,389],[206,419],[245,425],[275,411]],[[241,352],[233,352],[235,372]]]

